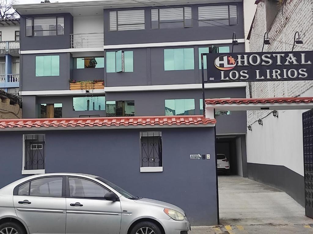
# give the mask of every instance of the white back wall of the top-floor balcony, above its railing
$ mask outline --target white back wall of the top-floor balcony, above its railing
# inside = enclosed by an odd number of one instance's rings
[[[103,15],[73,18],[73,33],[103,33]]]

